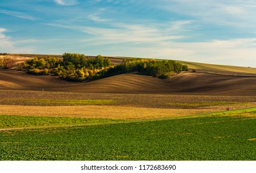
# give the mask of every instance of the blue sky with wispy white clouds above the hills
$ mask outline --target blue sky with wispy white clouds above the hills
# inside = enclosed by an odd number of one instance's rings
[[[256,67],[255,16],[255,0],[1,0],[0,53]]]

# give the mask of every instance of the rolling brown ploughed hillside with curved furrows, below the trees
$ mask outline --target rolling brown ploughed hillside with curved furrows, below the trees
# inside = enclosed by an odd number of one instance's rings
[[[256,95],[256,77],[181,73],[171,79],[122,74],[92,82],[66,82],[57,77],[0,70],[0,90],[81,93],[152,93],[189,95]]]

